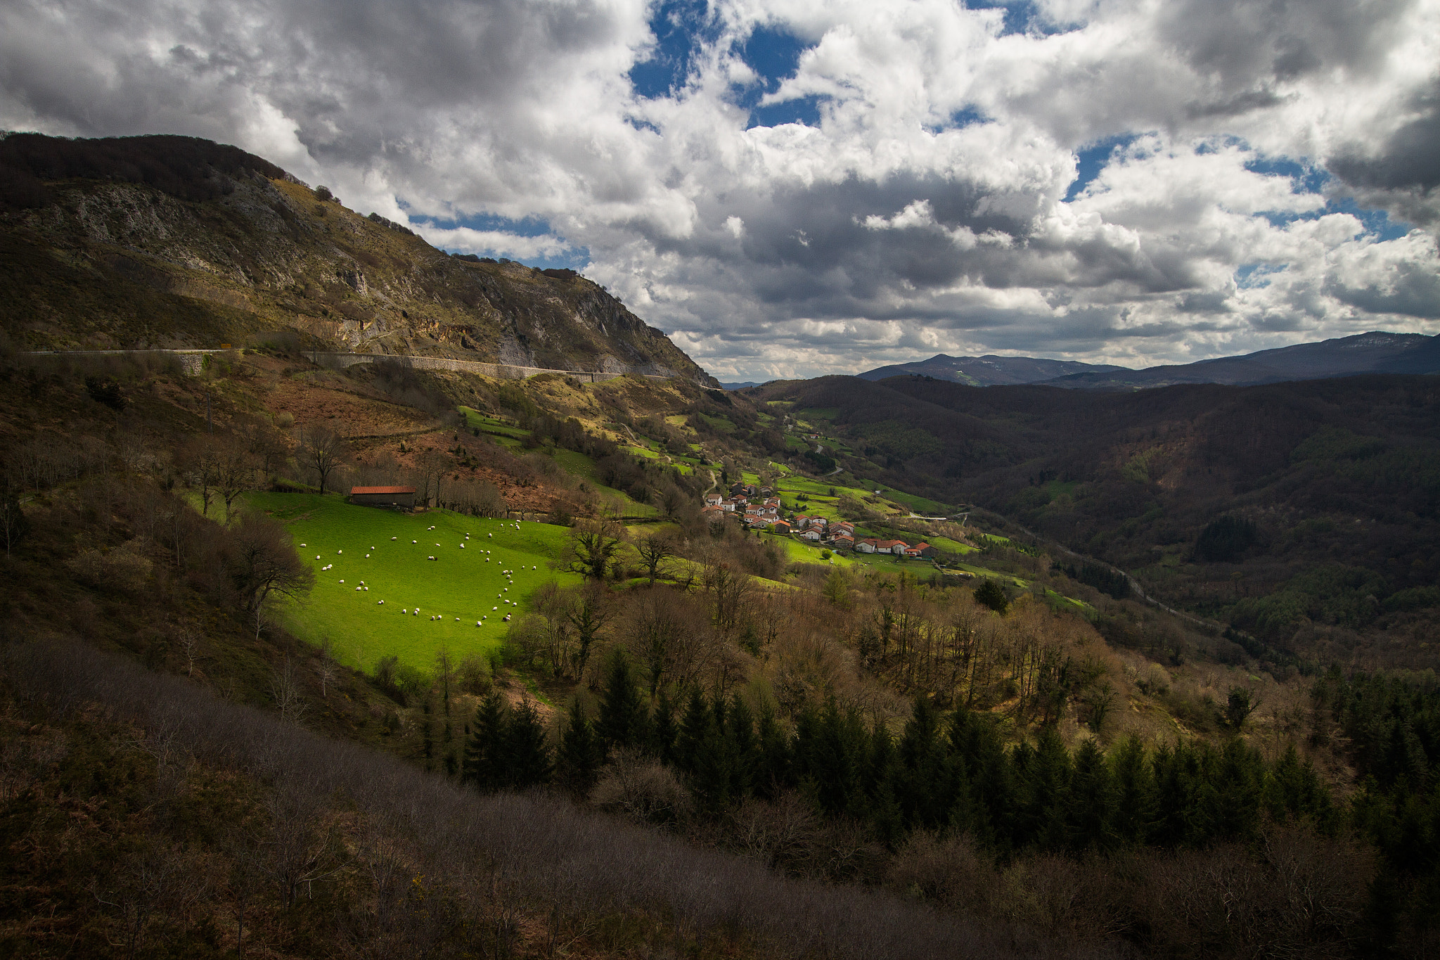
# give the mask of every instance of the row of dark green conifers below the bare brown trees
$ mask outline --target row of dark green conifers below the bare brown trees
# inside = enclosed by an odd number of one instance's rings
[[[1071,754],[1053,727],[1034,744],[1007,748],[989,715],[942,715],[926,699],[899,737],[834,701],[801,712],[791,734],[769,712],[755,717],[740,697],[694,691],[683,705],[661,697],[651,708],[615,655],[595,720],[579,702],[570,708],[554,774],[583,793],[622,750],[674,769],[703,815],[798,790],[825,816],[861,820],[888,843],[927,829],[969,833],[998,853],[1081,852],[1251,839],[1264,818],[1339,826],[1328,790],[1293,748],[1273,764],[1238,738],[1149,753],[1132,738],[1109,754],[1086,741]],[[497,695],[488,698],[467,747],[467,779],[501,789],[550,773],[533,711],[507,712]]]

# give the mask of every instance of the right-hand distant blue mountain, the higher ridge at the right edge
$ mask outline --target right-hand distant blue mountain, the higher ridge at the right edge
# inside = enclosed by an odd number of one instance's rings
[[[1045,383],[1090,390],[1135,390],[1179,383],[1254,386],[1361,373],[1440,373],[1440,337],[1372,331],[1313,344],[1261,350],[1243,357],[1218,357],[1145,370],[1112,367],[1109,371],[1071,373]]]

